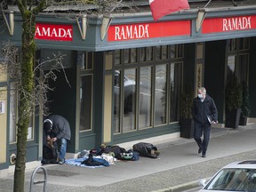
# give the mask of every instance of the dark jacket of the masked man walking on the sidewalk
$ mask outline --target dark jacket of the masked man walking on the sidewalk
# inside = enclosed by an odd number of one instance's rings
[[[208,122],[207,116],[212,117],[212,121],[217,122],[218,120],[218,110],[214,103],[214,100],[206,94],[204,101],[202,102],[200,98],[196,97],[192,105],[192,116],[193,120],[199,124],[204,124]]]

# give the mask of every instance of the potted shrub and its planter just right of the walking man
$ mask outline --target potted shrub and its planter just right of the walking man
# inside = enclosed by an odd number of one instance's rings
[[[237,128],[242,105],[242,87],[236,76],[232,76],[226,87],[226,121],[225,126]]]

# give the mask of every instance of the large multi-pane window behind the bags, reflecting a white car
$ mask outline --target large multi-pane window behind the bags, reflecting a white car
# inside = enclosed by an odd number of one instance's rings
[[[114,62],[115,133],[179,121],[182,44],[116,50]]]

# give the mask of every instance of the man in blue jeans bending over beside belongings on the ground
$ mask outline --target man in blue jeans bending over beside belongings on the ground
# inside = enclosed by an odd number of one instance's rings
[[[59,115],[48,116],[44,120],[44,131],[47,140],[58,141],[60,148],[59,164],[64,164],[67,142],[71,138],[71,131],[68,120]]]

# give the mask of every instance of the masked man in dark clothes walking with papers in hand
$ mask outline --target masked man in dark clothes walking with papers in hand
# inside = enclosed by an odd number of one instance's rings
[[[200,87],[198,95],[193,101],[192,116],[194,120],[194,139],[199,147],[198,154],[206,157],[206,150],[210,140],[211,124],[218,123],[218,110],[214,100],[206,94],[206,89]],[[201,137],[204,134],[204,139]]]

